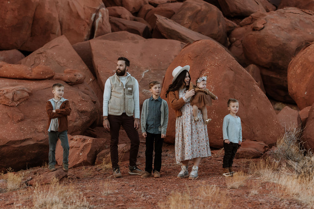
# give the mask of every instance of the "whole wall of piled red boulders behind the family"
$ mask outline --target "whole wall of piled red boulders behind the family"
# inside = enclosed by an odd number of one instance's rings
[[[166,99],[178,65],[191,66],[193,82],[208,75],[208,89],[219,97],[208,107],[212,148],[222,147],[231,97],[240,102],[248,145],[241,156],[261,156],[298,125],[305,127],[304,146],[313,149],[313,10],[313,0],[1,1],[0,171],[48,159],[45,103],[57,82],[72,107],[68,133],[78,151],[70,158],[78,160],[70,166],[93,164],[105,149],[106,138],[95,140],[104,83],[120,56],[131,61],[140,104],[153,80],[161,82]],[[174,137],[170,109],[165,142]]]

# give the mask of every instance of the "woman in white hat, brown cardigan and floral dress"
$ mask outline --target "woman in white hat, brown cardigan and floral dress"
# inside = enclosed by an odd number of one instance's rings
[[[176,113],[176,163],[182,163],[178,178],[198,178],[198,166],[202,157],[211,156],[207,134],[207,126],[204,125],[202,112],[198,110],[197,122],[193,121],[193,107],[190,104],[194,89],[188,91],[191,80],[190,66],[178,66],[172,71],[172,84],[166,91],[166,97],[172,109]],[[189,175],[189,160],[193,159],[192,171]]]

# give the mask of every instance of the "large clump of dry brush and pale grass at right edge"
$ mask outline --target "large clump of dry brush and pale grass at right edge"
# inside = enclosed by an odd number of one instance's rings
[[[300,127],[290,128],[277,141],[276,150],[269,158],[250,165],[250,172],[263,181],[276,185],[279,197],[301,201],[312,207],[314,205],[314,156],[302,149]]]

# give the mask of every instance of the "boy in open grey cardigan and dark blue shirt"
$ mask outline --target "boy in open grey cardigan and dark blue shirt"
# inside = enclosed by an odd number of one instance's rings
[[[143,102],[141,114],[142,135],[146,138],[145,151],[145,173],[141,178],[152,176],[160,177],[162,144],[166,137],[168,125],[168,105],[167,102],[160,98],[160,82],[152,81],[149,83],[149,91],[152,96]],[[155,144],[154,169],[153,150]]]

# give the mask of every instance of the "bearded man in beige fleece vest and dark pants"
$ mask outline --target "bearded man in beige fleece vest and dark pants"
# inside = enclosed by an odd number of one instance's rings
[[[110,157],[113,176],[116,178],[122,176],[118,165],[121,126],[131,142],[129,174],[142,175],[145,173],[136,165],[139,147],[137,132],[139,128],[139,92],[138,81],[127,72],[129,67],[130,61],[125,57],[119,57],[116,73],[107,79],[104,89],[103,125],[110,130]]]

